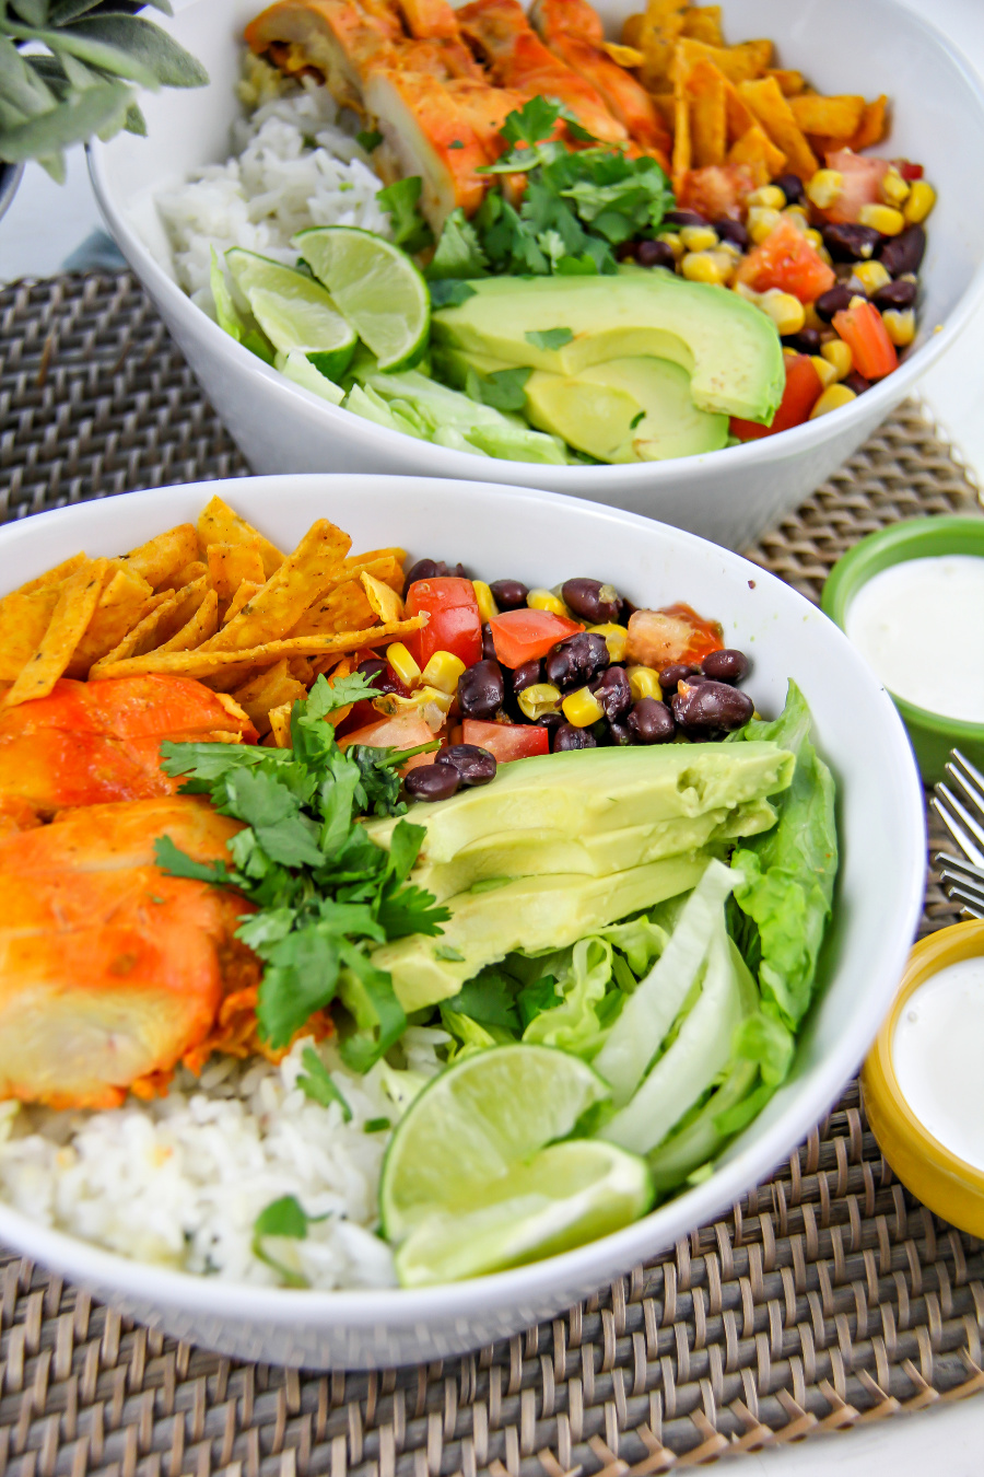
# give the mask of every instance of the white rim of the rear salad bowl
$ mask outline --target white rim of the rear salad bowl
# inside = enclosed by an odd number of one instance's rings
[[[183,9],[189,9],[193,3],[205,3],[205,0],[186,0]],[[214,0],[209,0],[209,3],[214,3]],[[866,4],[869,7],[875,6],[881,9],[885,15],[885,21],[891,25],[897,27],[901,22],[903,25],[910,27],[916,32],[912,37],[913,46],[935,49],[947,59],[950,66],[956,69],[962,81],[969,89],[977,103],[981,123],[984,124],[984,78],[980,77],[965,61],[949,37],[946,37],[938,27],[926,21],[925,16],[918,15],[915,10],[909,9],[907,4],[900,3],[900,0],[866,0]],[[208,86],[214,84],[209,83]],[[233,99],[230,99],[230,102]],[[360,439],[358,427],[353,427],[351,424],[353,421],[361,421],[360,417],[354,415],[351,411],[344,411],[341,406],[330,405],[328,400],[316,396],[311,390],[305,390],[302,385],[298,385],[285,375],[279,374],[273,369],[273,366],[266,365],[243,344],[236,343],[229,334],[226,334],[218,323],[215,323],[208,313],[204,312],[204,309],[198,307],[198,304],[192,301],[174,278],[164,270],[150,250],[145,245],[137,230],[127,220],[125,210],[121,205],[118,207],[114,199],[108,176],[108,158],[112,146],[112,140],[103,143],[99,139],[86,145],[86,157],[93,192],[114,238],[150,295],[155,300],[165,303],[168,310],[173,313],[184,316],[190,310],[195,316],[187,316],[186,319],[189,331],[195,332],[195,325],[198,325],[201,332],[205,334],[207,341],[211,338],[212,353],[223,354],[230,365],[235,365],[242,371],[252,368],[254,372],[260,372],[261,377],[267,378],[271,384],[280,385],[286,394],[294,397],[299,396],[302,402],[307,402],[311,406],[319,406],[328,415],[326,425],[330,427],[335,424],[339,431],[344,427],[348,427],[356,439]],[[795,425],[788,431],[782,431],[775,437],[757,437],[755,440],[745,442],[741,446],[721,448],[714,453],[707,452],[696,456],[674,456],[655,462],[621,465],[606,464],[605,474],[606,477],[615,479],[614,484],[617,487],[628,492],[636,486],[654,486],[659,480],[673,479],[674,482],[679,482],[682,477],[685,480],[689,476],[696,477],[698,471],[702,471],[708,455],[721,455],[723,452],[727,452],[730,459],[721,464],[724,474],[727,474],[729,470],[741,471],[749,464],[754,465],[808,453],[814,446],[825,443],[836,431],[850,434],[851,427],[860,421],[867,421],[875,409],[881,411],[879,419],[888,415],[888,412],[904,397],[906,391],[915,384],[915,381],[919,380],[960,335],[981,301],[984,301],[984,256],[971,275],[971,279],[950,316],[941,325],[935,325],[932,331],[926,331],[925,343],[922,343],[915,353],[910,353],[897,369],[894,369],[890,375],[885,375],[885,378],[879,380],[876,384],[872,384],[869,390],[859,394],[850,405],[839,406],[838,419],[834,425],[826,425],[825,422],[828,417],[822,415],[813,421],[805,421],[803,425]],[[201,323],[199,318],[202,319]],[[220,343],[220,340],[223,343]],[[370,437],[372,440],[382,436],[384,445],[394,453],[398,453],[400,445],[406,440],[404,433],[394,431],[385,425],[376,425],[370,421],[361,422],[361,431],[364,437]],[[777,443],[777,446],[775,443]],[[434,443],[426,445],[434,453],[434,476],[462,477],[465,480],[475,476],[474,456],[469,453],[453,450],[447,446],[435,446]],[[516,467],[518,464],[510,461],[507,465]],[[595,465],[552,465],[549,471],[552,479],[561,477],[564,486],[569,486],[572,489],[577,489],[581,484],[590,486],[597,477],[597,467]],[[533,473],[533,476],[536,476],[536,473]]]

